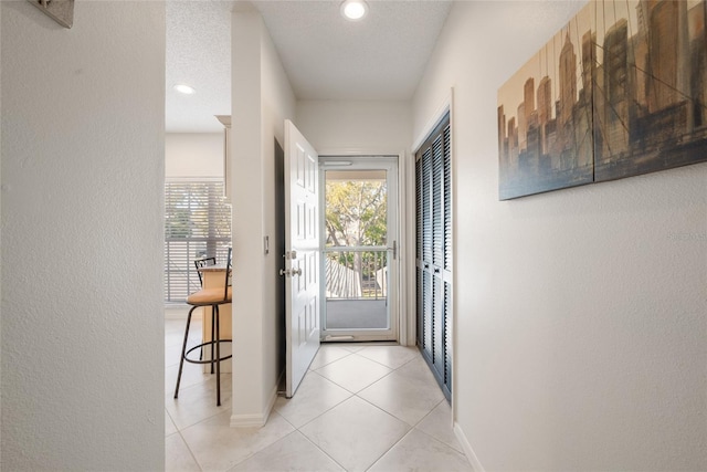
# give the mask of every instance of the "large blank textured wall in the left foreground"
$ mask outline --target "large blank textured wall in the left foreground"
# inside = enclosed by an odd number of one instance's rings
[[[0,4],[1,466],[161,470],[165,6]]]

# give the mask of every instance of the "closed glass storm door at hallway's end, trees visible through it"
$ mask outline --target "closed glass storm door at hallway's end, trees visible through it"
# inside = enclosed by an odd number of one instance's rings
[[[319,164],[321,340],[395,340],[398,158]]]

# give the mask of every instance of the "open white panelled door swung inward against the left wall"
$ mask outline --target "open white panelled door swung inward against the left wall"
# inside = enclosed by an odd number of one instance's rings
[[[318,156],[285,120],[286,396],[295,395],[319,349]]]

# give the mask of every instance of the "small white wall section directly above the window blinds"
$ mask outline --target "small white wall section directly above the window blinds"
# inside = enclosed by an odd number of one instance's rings
[[[165,177],[222,179],[223,133],[168,133],[165,137]]]

